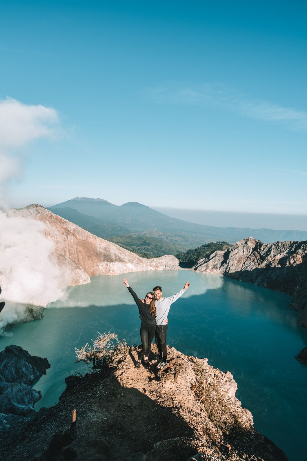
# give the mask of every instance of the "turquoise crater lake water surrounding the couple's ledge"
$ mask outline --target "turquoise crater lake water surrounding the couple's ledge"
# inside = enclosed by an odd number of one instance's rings
[[[69,287],[66,299],[49,305],[43,319],[14,326],[10,337],[0,337],[0,350],[16,344],[51,364],[33,386],[42,393],[35,409],[59,402],[69,373],[87,371],[75,363],[74,349],[91,343],[97,332],[115,331],[119,339],[140,343],[141,320],[124,275],[140,297],[156,284],[170,296],[189,279],[189,290],[171,306],[168,345],[229,370],[254,427],[290,461],[307,459],[307,366],[294,358],[307,345],[307,330],[296,324],[290,296],[216,274],[184,270],[93,277],[90,284]]]

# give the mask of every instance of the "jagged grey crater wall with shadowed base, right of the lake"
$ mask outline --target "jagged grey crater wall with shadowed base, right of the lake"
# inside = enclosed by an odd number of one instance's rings
[[[215,251],[192,269],[288,293],[299,313],[298,323],[307,327],[307,242],[265,245],[248,237],[230,249]]]

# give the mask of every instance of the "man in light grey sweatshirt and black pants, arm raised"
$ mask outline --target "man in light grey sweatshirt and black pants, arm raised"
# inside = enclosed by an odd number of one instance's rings
[[[155,332],[155,340],[159,351],[159,363],[157,368],[161,370],[167,363],[167,348],[166,348],[166,335],[167,335],[167,315],[169,313],[171,304],[177,301],[180,296],[183,295],[185,290],[188,290],[190,284],[189,280],[184,285],[183,289],[178,291],[173,296],[168,296],[164,298],[162,296],[162,288],[157,285],[153,288],[153,293],[156,298],[156,332]]]

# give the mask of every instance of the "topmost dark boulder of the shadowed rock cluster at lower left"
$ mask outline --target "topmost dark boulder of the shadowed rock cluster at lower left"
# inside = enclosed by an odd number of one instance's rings
[[[0,352],[0,374],[7,383],[31,385],[43,374],[50,364],[47,359],[30,355],[20,346],[6,346]]]

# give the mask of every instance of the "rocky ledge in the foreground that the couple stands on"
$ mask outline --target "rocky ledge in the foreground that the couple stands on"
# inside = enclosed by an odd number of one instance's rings
[[[76,408],[71,449],[80,461],[286,461],[254,429],[230,372],[168,349],[169,366],[158,372],[155,345],[149,364],[136,369],[136,348],[121,344],[101,371],[67,379],[59,403],[41,408],[0,457],[38,459]]]

